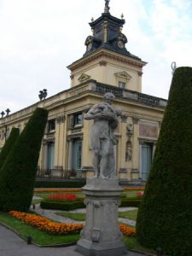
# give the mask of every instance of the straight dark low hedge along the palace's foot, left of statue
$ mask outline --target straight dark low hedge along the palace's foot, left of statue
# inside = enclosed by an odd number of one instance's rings
[[[82,188],[86,181],[40,181],[36,180],[35,188]]]

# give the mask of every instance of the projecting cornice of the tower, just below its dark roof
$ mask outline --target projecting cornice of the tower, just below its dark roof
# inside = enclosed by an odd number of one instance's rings
[[[114,53],[108,49],[98,49],[92,55],[87,55],[79,59],[78,61],[73,62],[67,68],[73,72],[77,70],[79,67],[84,67],[85,65],[90,64],[93,61],[97,61],[101,58],[118,61],[119,63],[139,68],[142,68],[147,64],[147,62],[145,61],[139,61],[126,55],[119,55],[118,53]]]

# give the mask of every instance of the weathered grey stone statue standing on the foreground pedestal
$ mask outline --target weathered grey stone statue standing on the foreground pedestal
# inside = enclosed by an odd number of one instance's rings
[[[84,119],[94,119],[90,131],[90,148],[93,150],[93,166],[95,177],[116,177],[113,145],[117,143],[113,131],[118,126],[120,109],[114,109],[111,104],[114,98],[111,92],[106,93],[104,102],[94,105]]]

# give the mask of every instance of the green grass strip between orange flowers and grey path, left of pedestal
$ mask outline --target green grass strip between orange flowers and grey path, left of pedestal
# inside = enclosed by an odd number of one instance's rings
[[[32,236],[32,241],[38,245],[56,245],[75,242],[79,240],[79,235],[68,235],[68,236],[55,236],[50,235],[44,231],[37,230],[36,228],[24,224],[19,219],[9,216],[8,213],[0,212],[0,222],[7,224],[10,228],[15,230],[24,239],[28,235]]]

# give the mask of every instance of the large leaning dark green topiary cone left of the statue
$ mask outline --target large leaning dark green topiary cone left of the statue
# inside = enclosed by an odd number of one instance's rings
[[[48,111],[37,108],[1,169],[0,203],[3,211],[27,211],[31,205]]]

